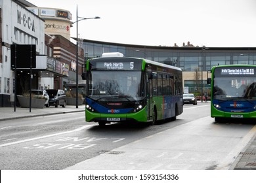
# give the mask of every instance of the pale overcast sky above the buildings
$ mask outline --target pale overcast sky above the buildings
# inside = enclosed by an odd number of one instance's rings
[[[83,20],[79,37],[149,46],[256,47],[255,0],[27,0]],[[71,28],[76,37],[76,26]]]

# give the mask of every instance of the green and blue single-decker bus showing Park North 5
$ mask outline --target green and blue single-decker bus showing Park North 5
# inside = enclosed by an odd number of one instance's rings
[[[89,59],[86,122],[148,122],[173,119],[183,112],[182,71],[142,58],[113,53]]]

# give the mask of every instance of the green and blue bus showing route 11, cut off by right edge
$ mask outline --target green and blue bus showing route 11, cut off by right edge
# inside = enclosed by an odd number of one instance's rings
[[[256,65],[218,65],[209,73],[211,117],[216,122],[256,118]]]

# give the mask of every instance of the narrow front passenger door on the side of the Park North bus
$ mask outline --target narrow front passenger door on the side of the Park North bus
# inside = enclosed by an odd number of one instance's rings
[[[152,120],[152,101],[153,101],[153,87],[152,87],[152,66],[146,69],[146,103],[148,111],[148,120]]]

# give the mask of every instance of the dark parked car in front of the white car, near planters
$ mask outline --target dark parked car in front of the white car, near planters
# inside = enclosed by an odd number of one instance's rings
[[[62,107],[66,107],[66,94],[63,90],[46,90],[50,99],[49,104],[58,107],[58,105]]]

